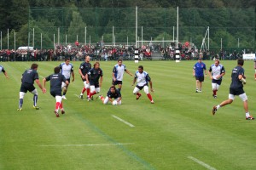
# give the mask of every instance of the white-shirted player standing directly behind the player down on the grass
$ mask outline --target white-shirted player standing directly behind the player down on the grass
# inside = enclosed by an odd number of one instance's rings
[[[125,72],[132,77],[131,72],[128,71],[125,65],[123,64],[123,60],[119,59],[118,64],[113,66],[113,73],[112,73],[112,77],[113,77],[112,84],[114,86],[119,85],[119,91],[121,91],[121,88],[122,88],[123,77]]]

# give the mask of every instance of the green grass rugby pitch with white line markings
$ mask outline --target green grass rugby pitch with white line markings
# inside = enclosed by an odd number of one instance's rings
[[[209,77],[202,93],[195,93],[195,62],[140,62],[152,78],[155,104],[144,92],[136,100],[132,77],[125,74],[122,105],[118,106],[79,99],[83,88],[80,62],[73,62],[75,82],[63,101],[66,114],[60,118],[53,112],[55,99],[49,94],[49,82],[46,94],[35,85],[40,110],[32,108],[28,93],[23,111],[16,111],[20,77],[32,63],[0,63],[9,74],[9,79],[0,75],[0,169],[256,169],[256,121],[245,120],[241,99],[212,116],[212,106],[228,97],[230,71],[236,61],[221,62],[226,75],[217,99],[212,98]],[[204,62],[207,69],[213,64]],[[38,64],[42,82],[60,62]],[[115,64],[101,62],[103,95],[111,85]],[[138,64],[132,61],[124,64],[131,72],[137,70]],[[253,61],[246,61],[244,68],[244,89],[250,113],[256,116]]]

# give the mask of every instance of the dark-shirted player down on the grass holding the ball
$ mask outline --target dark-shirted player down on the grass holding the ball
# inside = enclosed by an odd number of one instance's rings
[[[108,104],[108,101],[112,103],[112,105],[121,105],[122,96],[119,89],[116,89],[114,86],[111,86],[108,90],[107,97],[104,98],[102,95],[99,96],[104,105]]]

